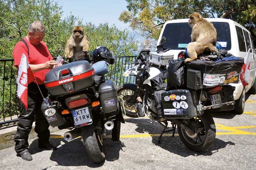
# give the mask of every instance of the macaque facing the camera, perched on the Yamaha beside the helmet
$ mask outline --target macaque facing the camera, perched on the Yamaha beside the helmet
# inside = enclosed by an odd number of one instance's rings
[[[72,35],[69,37],[65,47],[65,57],[71,58],[74,54],[80,51],[89,50],[89,41],[81,26],[75,26]]]

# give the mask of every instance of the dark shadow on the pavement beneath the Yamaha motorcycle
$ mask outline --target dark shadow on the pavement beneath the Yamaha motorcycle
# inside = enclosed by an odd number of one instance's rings
[[[84,145],[81,139],[74,139],[70,142],[63,138],[50,138],[50,143],[54,146],[59,146],[56,151],[52,151],[50,160],[57,162],[61,166],[89,166],[101,167],[105,161],[101,163],[94,163],[87,156]],[[115,161],[119,159],[119,151],[121,150],[121,141],[112,141],[110,138],[104,138],[105,158],[107,161]],[[33,156],[41,152],[38,148],[38,139],[34,140],[29,146],[29,152]]]

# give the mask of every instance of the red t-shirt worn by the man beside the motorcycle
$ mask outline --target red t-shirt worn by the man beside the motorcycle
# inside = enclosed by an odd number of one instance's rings
[[[44,42],[41,41],[38,46],[34,46],[27,40],[27,38],[24,38],[24,40],[29,46],[29,54],[25,43],[22,41],[18,42],[12,52],[15,67],[19,66],[20,59],[23,53],[27,56],[27,61],[29,62],[29,64],[42,64],[46,61],[53,60],[53,57]],[[45,74],[48,71],[49,69],[44,69],[33,73],[35,78],[37,79],[38,84],[44,84]]]

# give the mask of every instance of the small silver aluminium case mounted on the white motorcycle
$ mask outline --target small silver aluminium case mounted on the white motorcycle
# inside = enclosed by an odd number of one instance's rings
[[[149,53],[149,61],[155,65],[168,65],[168,61],[170,59],[173,59],[173,54],[167,54],[163,52]]]

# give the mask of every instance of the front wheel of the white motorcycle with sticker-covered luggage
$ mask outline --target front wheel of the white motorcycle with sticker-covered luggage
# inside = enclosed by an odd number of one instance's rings
[[[120,96],[123,98],[124,100],[124,108],[125,108],[125,113],[127,116],[129,117],[139,117],[136,110],[135,110],[135,105],[128,105],[128,103],[131,101],[132,96],[134,94],[134,90],[133,89],[129,89],[129,88],[124,88],[123,86],[120,86],[117,90],[117,96]],[[142,97],[138,97],[137,98],[139,101],[142,101]]]

